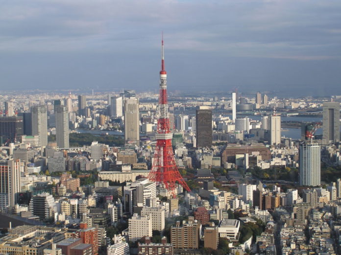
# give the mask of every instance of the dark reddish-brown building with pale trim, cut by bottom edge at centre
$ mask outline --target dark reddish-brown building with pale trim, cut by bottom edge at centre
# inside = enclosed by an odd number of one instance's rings
[[[164,236],[160,243],[150,243],[150,237],[146,237],[146,243],[139,243],[139,255],[173,255],[173,245],[167,243],[167,238]]]

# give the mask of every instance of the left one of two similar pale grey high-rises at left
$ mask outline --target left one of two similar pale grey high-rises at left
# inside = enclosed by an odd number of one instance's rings
[[[31,108],[32,136],[38,136],[38,145],[48,145],[48,111],[45,105],[35,105]]]

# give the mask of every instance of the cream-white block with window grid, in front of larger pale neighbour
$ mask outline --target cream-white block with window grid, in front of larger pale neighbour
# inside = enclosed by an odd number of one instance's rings
[[[150,215],[138,216],[137,213],[134,213],[129,219],[128,230],[129,241],[131,242],[136,242],[145,236],[152,236],[152,221]]]

